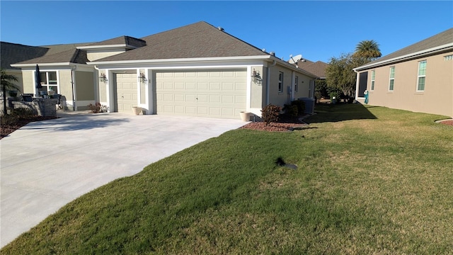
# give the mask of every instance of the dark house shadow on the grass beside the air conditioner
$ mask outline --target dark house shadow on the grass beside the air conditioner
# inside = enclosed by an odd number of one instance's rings
[[[316,114],[311,115],[304,121],[306,123],[324,123],[338,122],[343,120],[373,120],[377,119],[375,115],[368,111],[369,108],[378,106],[365,107],[360,103],[319,103],[314,107]]]

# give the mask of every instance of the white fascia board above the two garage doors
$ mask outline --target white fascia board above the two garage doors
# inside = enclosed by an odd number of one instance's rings
[[[234,60],[268,60],[270,56],[241,56],[241,57],[194,57],[194,58],[180,58],[180,59],[166,59],[166,60],[119,60],[119,61],[101,61],[101,62],[88,62],[87,64],[155,64],[155,63],[178,63],[183,62],[226,62]]]

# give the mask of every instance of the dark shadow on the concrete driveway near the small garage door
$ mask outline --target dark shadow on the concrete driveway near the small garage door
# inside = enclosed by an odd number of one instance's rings
[[[121,125],[129,122],[128,118],[114,118],[112,115],[84,114],[65,116],[54,120],[46,120],[25,125],[23,130],[91,130],[93,128],[105,128],[109,125]]]

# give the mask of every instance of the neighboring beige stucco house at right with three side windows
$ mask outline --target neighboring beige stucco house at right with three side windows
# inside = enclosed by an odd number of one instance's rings
[[[354,71],[357,101],[453,117],[453,28]]]

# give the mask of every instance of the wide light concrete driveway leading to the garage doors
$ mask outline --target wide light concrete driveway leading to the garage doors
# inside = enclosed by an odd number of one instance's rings
[[[246,124],[121,113],[61,117],[0,140],[1,247],[84,193]]]

